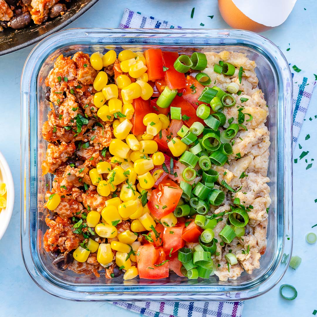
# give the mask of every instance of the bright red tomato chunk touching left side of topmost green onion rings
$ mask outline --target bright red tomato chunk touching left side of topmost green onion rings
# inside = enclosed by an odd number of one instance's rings
[[[177,52],[163,52],[163,65],[168,68],[165,73],[166,85],[170,89],[180,89],[185,87],[185,76],[174,68],[174,62],[178,58]]]

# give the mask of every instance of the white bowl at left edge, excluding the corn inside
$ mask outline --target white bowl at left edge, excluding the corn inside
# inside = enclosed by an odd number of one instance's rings
[[[0,182],[7,187],[7,206],[0,211],[0,240],[7,230],[14,205],[14,184],[10,167],[0,152]]]

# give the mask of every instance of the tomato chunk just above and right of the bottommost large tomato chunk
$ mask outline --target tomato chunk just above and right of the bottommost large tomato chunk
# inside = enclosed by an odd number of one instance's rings
[[[174,253],[184,247],[185,240],[182,239],[184,228],[185,223],[177,223],[174,227],[164,229],[163,247],[165,254]]]

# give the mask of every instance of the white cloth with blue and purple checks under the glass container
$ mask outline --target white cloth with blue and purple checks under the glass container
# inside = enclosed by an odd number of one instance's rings
[[[153,16],[144,16],[141,12],[125,9],[120,28],[181,29],[182,27],[157,20]],[[294,87],[293,144],[295,145],[316,81],[309,81],[299,74],[292,75]],[[113,302],[114,305],[151,317],[241,317],[243,303],[243,301]]]

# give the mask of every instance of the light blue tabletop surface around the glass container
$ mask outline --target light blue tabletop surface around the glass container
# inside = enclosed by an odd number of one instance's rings
[[[73,0],[74,1],[74,0]],[[190,18],[195,7],[194,18]],[[205,0],[139,0],[107,1],[100,0],[92,9],[72,23],[68,28],[119,26],[123,10],[129,8],[143,14],[165,19],[186,28],[226,28],[217,1]],[[304,10],[306,8],[307,10]],[[208,15],[214,15],[211,20]],[[263,35],[275,42],[284,52],[288,61],[303,69],[301,74],[313,79],[317,74],[317,2],[298,0],[288,20],[280,27],[264,32]],[[290,43],[290,45],[288,44]],[[291,49],[287,52],[286,49]],[[20,76],[25,59],[31,48],[0,57],[1,123],[0,150],[8,160],[15,181],[15,208],[9,228],[0,241],[0,316],[136,316],[108,303],[77,303],[51,296],[31,280],[26,272],[20,251]],[[294,285],[298,297],[285,301],[276,286],[267,294],[245,302],[243,316],[311,316],[317,309],[317,244],[308,245],[305,234],[314,231],[311,226],[317,223],[317,129],[314,115],[317,92],[315,91],[299,136],[302,150],[296,146],[294,158],[301,152],[309,151],[307,159],[315,158],[313,167],[306,170],[307,163],[302,159],[294,165],[294,255],[302,257],[300,267],[289,268],[282,283]],[[308,118],[313,120],[309,121]],[[310,139],[305,136],[310,134]],[[309,163],[309,162],[308,162]]]

